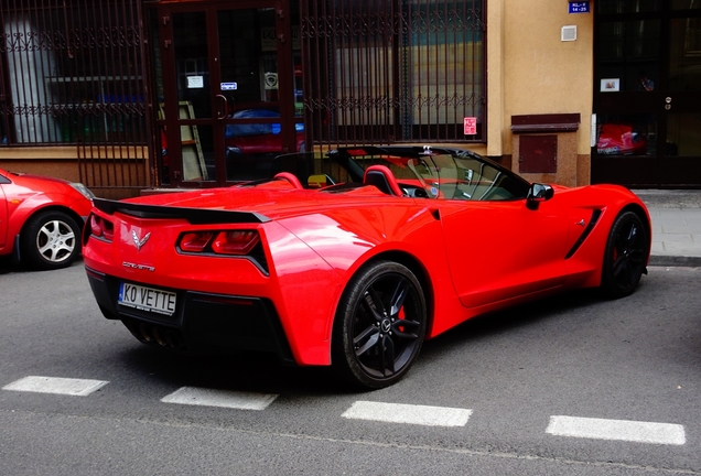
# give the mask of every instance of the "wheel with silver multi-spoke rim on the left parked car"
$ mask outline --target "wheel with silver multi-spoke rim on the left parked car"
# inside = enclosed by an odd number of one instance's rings
[[[20,246],[22,261],[31,268],[66,268],[80,255],[80,227],[64,212],[40,212],[24,224]]]

